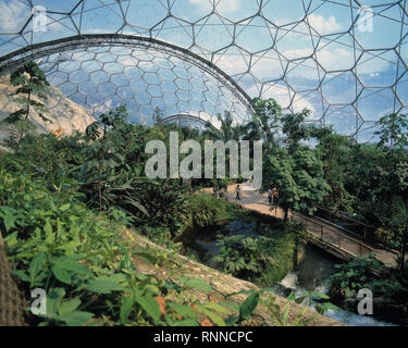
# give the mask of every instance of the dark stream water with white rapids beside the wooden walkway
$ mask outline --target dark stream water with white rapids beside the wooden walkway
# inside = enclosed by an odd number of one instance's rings
[[[258,236],[262,234],[262,228],[268,228],[260,221],[244,221],[233,219],[220,221],[213,226],[202,228],[191,228],[184,232],[177,239],[184,247],[193,252],[197,260],[213,269],[222,270],[222,265],[211,260],[219,253],[220,247],[217,245],[218,236],[246,235]],[[312,245],[307,245],[297,266],[289,272],[277,284],[271,284],[276,295],[287,297],[292,291],[301,296],[306,291],[329,293],[327,279],[335,272],[336,261],[330,254],[319,250]],[[312,307],[312,304],[311,304]],[[350,326],[395,326],[374,319],[373,316],[358,315],[343,310],[327,310],[324,315],[336,319]]]

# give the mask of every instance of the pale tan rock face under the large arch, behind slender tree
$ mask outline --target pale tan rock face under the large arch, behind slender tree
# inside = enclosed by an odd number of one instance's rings
[[[22,107],[14,100],[16,87],[12,86],[9,76],[0,77],[0,122]],[[34,133],[41,134],[52,132],[55,135],[70,135],[74,130],[85,132],[86,127],[94,123],[96,119],[89,111],[62,96],[61,90],[55,87],[48,87],[48,99],[38,100],[46,105],[44,116],[52,123],[45,122],[38,112],[32,108],[29,120],[36,125]],[[0,144],[10,137],[13,126],[0,125]]]

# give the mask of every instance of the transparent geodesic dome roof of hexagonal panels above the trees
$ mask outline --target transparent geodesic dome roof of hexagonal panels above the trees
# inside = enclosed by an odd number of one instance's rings
[[[52,85],[134,122],[248,120],[250,99],[372,138],[407,112],[407,5],[381,0],[5,0],[0,71],[36,59]]]

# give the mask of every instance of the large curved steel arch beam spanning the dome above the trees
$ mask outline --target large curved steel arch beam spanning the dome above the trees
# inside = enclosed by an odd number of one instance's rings
[[[245,90],[224,71],[202,57],[181,48],[178,46],[153,39],[150,37],[124,35],[124,34],[87,34],[65,37],[48,42],[35,44],[0,58],[0,75],[15,69],[27,60],[71,51],[81,47],[100,47],[100,46],[126,46],[143,47],[148,50],[164,52],[187,61],[200,70],[209,73],[246,107],[250,114],[254,113],[251,98]]]

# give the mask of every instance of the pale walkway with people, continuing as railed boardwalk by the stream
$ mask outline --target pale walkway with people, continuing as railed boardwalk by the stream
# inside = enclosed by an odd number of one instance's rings
[[[283,217],[284,212],[280,208],[271,210],[268,202],[268,195],[260,195],[250,188],[248,184],[242,184],[242,199],[235,199],[236,185],[228,186],[227,199],[240,204],[245,209],[255,210],[262,214]],[[212,192],[212,188],[206,188],[205,191]],[[372,253],[379,261],[387,266],[396,266],[396,253],[383,249],[375,249],[366,245],[362,239],[348,235],[341,228],[336,228],[332,224],[324,223],[320,219],[304,216],[298,213],[290,213],[289,219],[302,222],[306,225],[310,236],[317,244],[322,247],[331,248],[342,257],[348,259],[356,256],[369,256]]]

